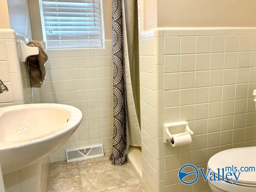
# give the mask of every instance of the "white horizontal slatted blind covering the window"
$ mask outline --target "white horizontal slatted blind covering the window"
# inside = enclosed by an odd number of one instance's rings
[[[100,0],[41,0],[47,48],[102,47]]]

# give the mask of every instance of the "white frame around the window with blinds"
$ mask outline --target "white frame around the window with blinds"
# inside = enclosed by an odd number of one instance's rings
[[[46,39],[46,30],[45,30],[45,25],[44,25],[44,14],[43,14],[43,4],[42,0],[39,1],[39,10],[40,10],[40,19],[41,19],[41,26],[42,26],[42,36],[43,40],[46,45],[46,50],[92,50],[92,49],[105,49],[105,27],[104,27],[104,12],[103,12],[103,6],[102,6],[102,0],[100,1],[100,25],[101,25],[101,44],[102,47],[70,47],[70,48],[48,48],[47,47],[47,39]]]

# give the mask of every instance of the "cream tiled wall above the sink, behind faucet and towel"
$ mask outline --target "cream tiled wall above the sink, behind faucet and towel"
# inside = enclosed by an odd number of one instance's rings
[[[40,88],[31,88],[27,64],[20,62],[16,40],[28,38],[12,29],[0,29],[0,79],[9,92],[0,94],[0,107],[41,101]]]

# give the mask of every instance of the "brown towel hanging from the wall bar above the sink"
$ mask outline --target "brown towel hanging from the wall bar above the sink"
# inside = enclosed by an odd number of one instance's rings
[[[39,55],[29,56],[27,62],[31,87],[41,87],[46,75],[44,64],[48,60],[48,56],[38,41],[30,41],[27,46],[39,49]]]

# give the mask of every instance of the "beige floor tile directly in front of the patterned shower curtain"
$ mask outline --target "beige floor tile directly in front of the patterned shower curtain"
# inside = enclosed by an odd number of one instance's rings
[[[102,192],[138,184],[136,176],[127,163],[114,166],[108,160],[108,155],[79,162],[78,168],[83,192]]]

